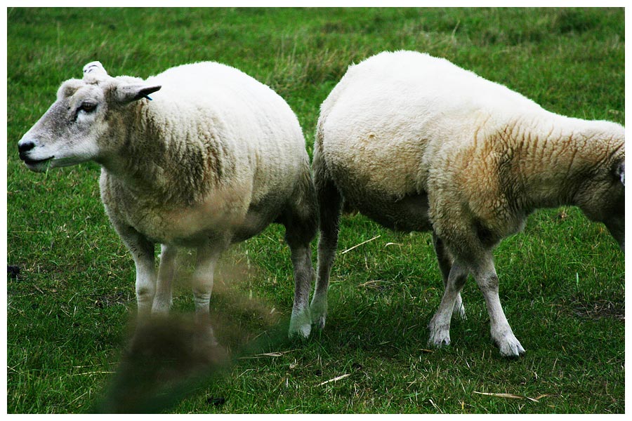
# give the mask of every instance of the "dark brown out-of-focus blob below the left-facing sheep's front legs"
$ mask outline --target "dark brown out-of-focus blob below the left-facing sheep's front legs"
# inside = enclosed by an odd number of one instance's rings
[[[158,413],[230,366],[213,330],[193,317],[154,317],[121,353],[99,413]]]

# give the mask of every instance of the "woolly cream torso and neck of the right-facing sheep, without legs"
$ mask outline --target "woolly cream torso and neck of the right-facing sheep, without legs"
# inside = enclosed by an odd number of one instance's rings
[[[553,114],[447,60],[398,51],[348,69],[322,103],[315,153],[345,202],[383,225],[432,224],[455,241],[478,227],[493,246],[534,208],[577,204],[568,192],[595,163],[621,161],[623,139],[617,124]],[[418,220],[397,223],[412,208]]]

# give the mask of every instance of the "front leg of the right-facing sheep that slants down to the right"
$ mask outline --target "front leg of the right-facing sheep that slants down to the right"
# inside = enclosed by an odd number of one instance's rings
[[[513,335],[513,330],[503,312],[499,298],[498,275],[492,258],[487,258],[483,265],[474,271],[474,277],[480,291],[485,297],[492,339],[496,342],[502,356],[520,356],[525,349]]]

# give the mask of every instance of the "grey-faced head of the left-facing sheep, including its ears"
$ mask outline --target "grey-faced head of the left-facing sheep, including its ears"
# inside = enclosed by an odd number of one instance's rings
[[[57,100],[18,142],[20,159],[29,170],[103,159],[117,147],[117,139],[108,135],[119,122],[117,110],[160,88],[114,79],[100,63],[91,69],[98,70],[96,75],[62,83]]]

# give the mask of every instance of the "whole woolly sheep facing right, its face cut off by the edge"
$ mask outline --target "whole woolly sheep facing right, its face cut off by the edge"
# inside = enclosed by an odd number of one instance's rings
[[[414,51],[350,66],[322,103],[312,173],[320,214],[315,326],[341,207],[391,229],[431,231],[445,293],[428,342],[449,345],[472,274],[503,356],[525,349],[499,301],[492,250],[536,208],[579,206],[624,248],[624,127],[548,112],[506,86]]]

